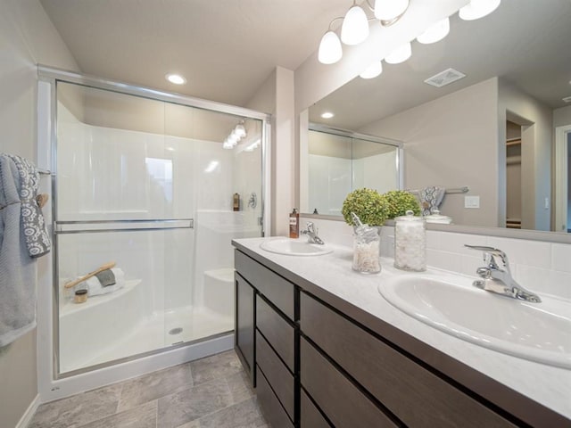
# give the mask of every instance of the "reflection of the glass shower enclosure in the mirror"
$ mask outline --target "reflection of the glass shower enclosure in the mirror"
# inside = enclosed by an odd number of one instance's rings
[[[310,125],[307,197],[302,212],[341,216],[348,193],[367,187],[385,193],[401,188],[401,143],[339,129]]]

